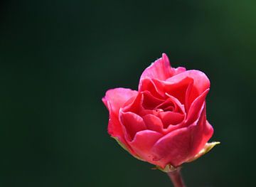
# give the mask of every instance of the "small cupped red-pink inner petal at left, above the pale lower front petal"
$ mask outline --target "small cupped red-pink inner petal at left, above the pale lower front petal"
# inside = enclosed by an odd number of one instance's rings
[[[137,132],[146,129],[146,125],[144,124],[142,117],[132,112],[120,112],[120,120],[127,130],[129,141],[134,138],[134,135]]]

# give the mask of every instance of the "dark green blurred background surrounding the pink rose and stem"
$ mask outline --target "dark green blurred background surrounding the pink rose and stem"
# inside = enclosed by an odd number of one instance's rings
[[[101,102],[161,53],[211,81],[221,141],[187,186],[255,186],[256,1],[1,1],[0,186],[171,186],[107,134]]]

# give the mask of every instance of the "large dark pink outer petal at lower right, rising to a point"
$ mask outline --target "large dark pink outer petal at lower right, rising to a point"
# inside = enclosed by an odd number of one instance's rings
[[[201,111],[200,118],[189,127],[176,129],[156,142],[152,151],[155,159],[159,160],[159,166],[180,166],[203,149],[213,135],[213,128],[206,121],[205,107]]]

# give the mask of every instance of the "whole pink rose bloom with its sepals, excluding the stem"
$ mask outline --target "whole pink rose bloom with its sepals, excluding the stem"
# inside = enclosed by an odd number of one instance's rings
[[[205,154],[213,127],[206,120],[210,81],[199,70],[171,68],[166,54],[141,75],[139,88],[107,90],[108,133],[132,156],[163,171]]]

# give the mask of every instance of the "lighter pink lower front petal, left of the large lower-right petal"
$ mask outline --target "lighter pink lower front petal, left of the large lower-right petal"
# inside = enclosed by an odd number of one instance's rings
[[[137,132],[134,140],[130,142],[129,145],[144,161],[148,161],[151,164],[156,164],[156,162],[153,160],[151,148],[162,136],[163,135],[159,132],[144,130]]]

